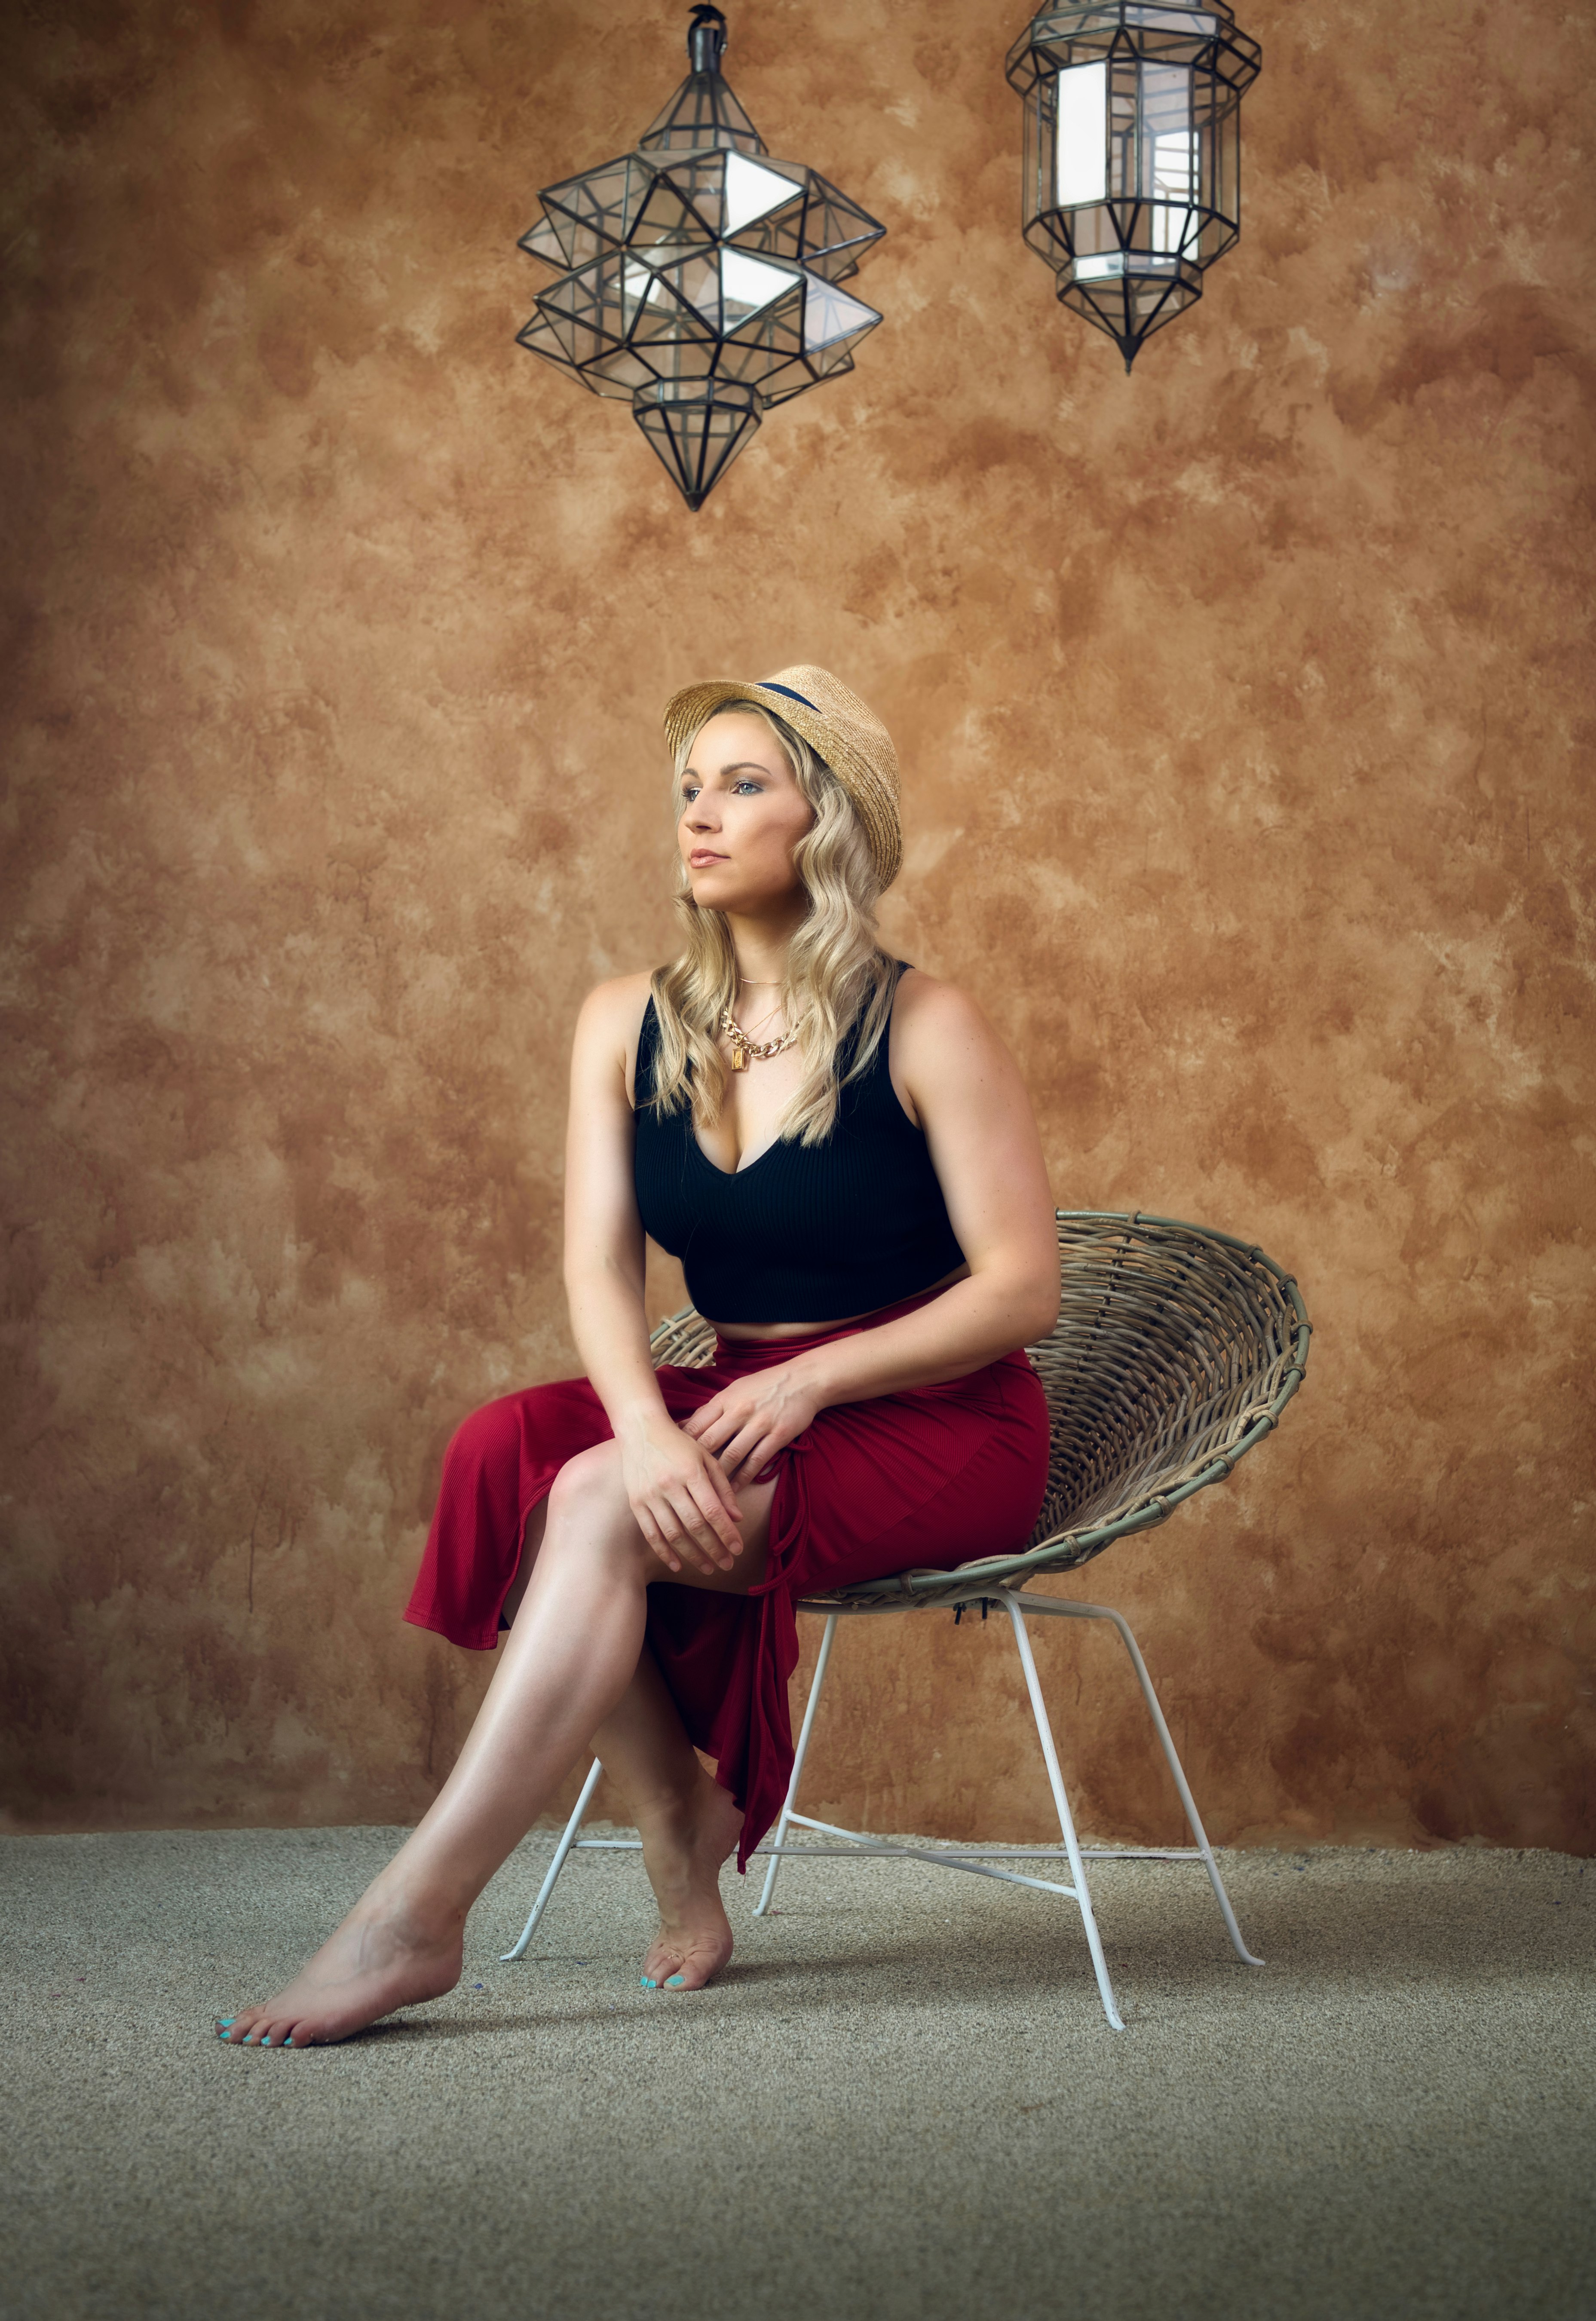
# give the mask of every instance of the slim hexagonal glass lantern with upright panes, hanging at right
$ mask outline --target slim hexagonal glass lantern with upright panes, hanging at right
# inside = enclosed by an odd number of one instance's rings
[[[1009,49],[1025,241],[1125,371],[1241,232],[1241,97],[1260,65],[1225,0],[1042,9]]]

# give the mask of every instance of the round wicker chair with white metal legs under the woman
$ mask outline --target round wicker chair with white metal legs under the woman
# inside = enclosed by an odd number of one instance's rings
[[[1123,1216],[1102,1209],[1060,1209],[1058,1253],[1062,1270],[1058,1325],[1049,1339],[1028,1349],[1051,1413],[1049,1490],[1037,1530],[1030,1543],[1014,1555],[988,1555],[953,1571],[909,1569],[863,1588],[800,1599],[798,1611],[824,1615],[826,1632],[803,1713],[786,1803],[770,1843],[759,1848],[770,1866],[754,1910],[763,1917],[770,1908],[782,1861],[835,1854],[907,1854],[914,1861],[933,1861],[937,1868],[1062,1894],[1081,1910],[1104,2015],[1116,2031],[1123,2031],[1086,1885],[1088,1859],[1202,1866],[1236,1957],[1246,1959],[1248,1966],[1262,1961],[1241,1940],[1213,1848],[1127,1622],[1104,1604],[1032,1595],[1025,1583],[1044,1571],[1074,1571],[1093,1555],[1102,1555],[1116,1539],[1165,1523],[1195,1492],[1225,1481],[1236,1460],[1246,1458],[1274,1430],[1281,1411],[1301,1386],[1311,1325],[1297,1284],[1281,1272],[1274,1258],[1204,1225],[1183,1225],[1176,1219],[1144,1216],[1141,1212]],[[712,1349],[714,1332],[691,1307],[663,1321],[652,1337],[656,1362],[694,1367],[708,1362]],[[981,1613],[1000,1608],[1009,1618],[1053,1789],[1062,1852],[1060,1848],[937,1848],[933,1852],[930,1848],[888,1845],[882,1838],[835,1829],[830,1822],[798,1813],[798,1783],[826,1685],[837,1620],[935,1606],[960,1618],[965,1608],[977,1604]],[[1079,1845],[1025,1634],[1028,1613],[1060,1620],[1109,1620],[1118,1632],[1185,1808],[1192,1845]],[[554,1848],[531,1917],[506,1959],[524,1957],[573,1845],[638,1845],[636,1838],[578,1836],[598,1773],[601,1766],[594,1759],[575,1813]],[[817,1838],[842,1843],[791,1845],[791,1829],[807,1829]],[[1011,1861],[1067,1866],[1069,1882],[1060,1885],[1032,1875],[1030,1868],[1002,1866]]]

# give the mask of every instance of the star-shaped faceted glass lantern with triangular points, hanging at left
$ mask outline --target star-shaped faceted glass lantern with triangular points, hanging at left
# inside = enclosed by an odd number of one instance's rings
[[[696,7],[691,72],[636,151],[547,186],[520,241],[561,269],[520,346],[629,399],[689,508],[772,404],[851,371],[882,320],[837,283],[884,227],[819,169],[766,153],[724,49],[726,19]]]

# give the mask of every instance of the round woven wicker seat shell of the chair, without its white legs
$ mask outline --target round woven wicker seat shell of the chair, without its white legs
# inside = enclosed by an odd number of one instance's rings
[[[1308,1311],[1262,1249],[1171,1216],[1060,1209],[1060,1309],[1028,1346],[1049,1400],[1049,1488],[1016,1555],[958,1571],[902,1571],[837,1604],[935,1604],[1035,1571],[1072,1571],[1127,1532],[1223,1483],[1301,1386]],[[714,1330],[684,1307],[654,1330],[654,1362],[696,1369]]]

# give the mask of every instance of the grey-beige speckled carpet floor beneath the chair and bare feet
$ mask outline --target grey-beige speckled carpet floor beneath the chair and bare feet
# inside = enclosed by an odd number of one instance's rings
[[[394,1831],[0,1841],[0,2309],[181,2321],[1596,2314],[1596,1866],[1227,1854],[1069,1903],[905,1864],[733,1899],[647,1996],[636,1854],[550,1836],[457,1994],[309,2054],[223,2049]],[[728,1885],[733,1880],[728,1878]]]

